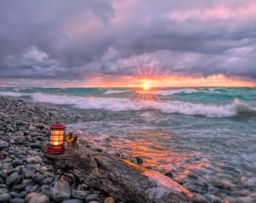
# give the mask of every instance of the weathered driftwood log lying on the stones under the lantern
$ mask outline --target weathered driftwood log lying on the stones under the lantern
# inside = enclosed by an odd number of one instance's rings
[[[65,153],[45,157],[54,170],[72,173],[78,183],[125,203],[191,202],[190,192],[171,178],[78,145],[69,143]]]

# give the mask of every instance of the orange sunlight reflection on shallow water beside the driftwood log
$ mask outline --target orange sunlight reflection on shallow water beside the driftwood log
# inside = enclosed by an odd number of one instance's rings
[[[178,149],[177,143],[172,144],[173,135],[166,132],[143,130],[126,135],[125,138],[122,135],[114,138],[108,135],[99,136],[101,138],[87,134],[86,139],[97,146],[105,147],[107,151],[114,150],[120,155],[130,157],[139,156],[143,160],[143,167],[160,173],[174,170],[174,176],[180,178],[191,171],[209,167],[208,160],[203,159],[199,152]]]

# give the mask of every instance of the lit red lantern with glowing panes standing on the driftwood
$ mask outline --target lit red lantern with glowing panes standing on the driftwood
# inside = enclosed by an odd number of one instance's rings
[[[61,123],[55,123],[50,126],[50,145],[47,148],[47,153],[59,154],[65,150],[64,135],[66,126]]]

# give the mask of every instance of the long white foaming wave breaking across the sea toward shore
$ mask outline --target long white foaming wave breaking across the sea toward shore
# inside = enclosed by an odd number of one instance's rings
[[[196,92],[196,89],[189,89]],[[108,90],[111,91],[111,90]],[[174,90],[170,90],[173,93]],[[175,90],[176,91],[176,90]],[[179,90],[181,91],[181,89]],[[188,91],[182,89],[182,91]],[[118,91],[114,91],[118,92]],[[121,91],[123,92],[123,91]],[[135,101],[128,98],[83,97],[75,95],[56,95],[42,92],[0,92],[0,95],[30,96],[34,102],[56,105],[71,105],[80,109],[102,109],[105,111],[160,111],[162,114],[183,114],[190,116],[224,118],[240,115],[255,115],[256,107],[242,102],[180,102],[180,101]]]

